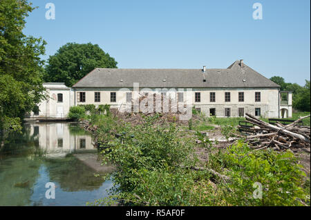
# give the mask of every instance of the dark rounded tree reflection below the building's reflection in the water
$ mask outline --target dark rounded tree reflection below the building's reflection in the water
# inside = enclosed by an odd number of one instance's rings
[[[72,155],[63,159],[47,159],[45,164],[50,181],[59,183],[64,191],[96,190],[104,183],[101,177],[94,176],[95,170]]]

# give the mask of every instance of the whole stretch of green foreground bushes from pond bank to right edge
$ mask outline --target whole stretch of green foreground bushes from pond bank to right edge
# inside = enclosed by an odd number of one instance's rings
[[[176,124],[156,126],[158,115],[144,117],[144,123],[130,126],[104,114],[89,116],[97,126],[97,140],[103,163],[113,161],[117,172],[107,175],[114,187],[110,196],[88,205],[126,206],[301,206],[310,204],[310,188],[305,186],[292,152],[251,150],[244,141],[223,150],[209,137],[180,135]],[[229,135],[233,127],[224,128]],[[115,135],[117,134],[117,136]],[[208,152],[199,161],[198,148]],[[216,143],[217,144],[217,143]],[[202,170],[192,170],[201,166]],[[227,175],[229,180],[215,176]],[[254,183],[263,186],[262,199],[254,199]],[[303,188],[304,189],[303,189]]]

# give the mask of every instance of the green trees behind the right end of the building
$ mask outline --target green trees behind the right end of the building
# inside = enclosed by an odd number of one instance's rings
[[[305,86],[299,86],[297,83],[286,83],[283,77],[271,77],[270,79],[281,86],[281,91],[292,91],[294,109],[310,112],[310,80],[305,80]]]

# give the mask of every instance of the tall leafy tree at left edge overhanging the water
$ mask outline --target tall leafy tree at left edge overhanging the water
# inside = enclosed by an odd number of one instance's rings
[[[25,18],[34,9],[28,0],[1,0],[0,130],[20,128],[24,114],[44,99],[40,55],[46,42],[22,32]]]

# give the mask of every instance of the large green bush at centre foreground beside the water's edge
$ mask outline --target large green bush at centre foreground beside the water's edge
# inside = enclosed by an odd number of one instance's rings
[[[182,192],[187,194],[192,174],[179,166],[192,163],[194,141],[178,137],[173,123],[154,126],[156,118],[145,117],[142,125],[123,128],[119,139],[107,135],[102,139],[103,147],[107,142],[111,146],[103,151],[104,158],[118,165],[112,193],[126,204],[174,206],[180,204]],[[106,134],[102,128],[100,132]]]

